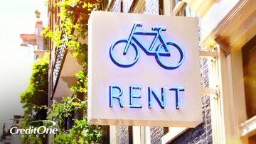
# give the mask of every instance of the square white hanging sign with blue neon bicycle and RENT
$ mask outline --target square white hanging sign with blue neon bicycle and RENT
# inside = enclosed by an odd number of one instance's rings
[[[88,30],[88,123],[201,123],[196,18],[93,11]]]

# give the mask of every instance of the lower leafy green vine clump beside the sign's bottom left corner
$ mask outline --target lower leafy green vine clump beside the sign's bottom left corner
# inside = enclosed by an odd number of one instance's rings
[[[70,90],[85,94],[87,90],[82,87],[87,83],[85,74],[78,72],[76,74],[80,80],[77,82],[76,87],[71,87]],[[72,128],[65,128],[65,120],[78,111],[86,111],[86,101],[78,99],[75,94],[72,98],[63,97],[63,103],[53,104],[53,109],[48,113],[48,119],[57,123],[58,134],[52,140],[54,143],[101,143],[102,134],[100,126],[93,126],[87,124],[87,116],[82,119],[73,119],[74,124]]]

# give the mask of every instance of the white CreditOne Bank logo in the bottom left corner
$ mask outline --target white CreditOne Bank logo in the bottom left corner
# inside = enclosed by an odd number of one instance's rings
[[[12,127],[10,129],[11,134],[28,134],[28,135],[38,135],[38,134],[57,134],[58,129],[53,128],[56,123],[54,121],[48,121],[48,120],[41,120],[41,121],[31,121],[29,123],[39,123],[39,122],[47,122],[51,123],[50,126],[39,126],[39,127],[34,127],[34,126],[29,126],[29,128],[18,128],[16,126]]]

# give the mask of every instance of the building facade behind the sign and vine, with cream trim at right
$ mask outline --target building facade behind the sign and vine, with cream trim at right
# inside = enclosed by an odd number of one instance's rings
[[[196,128],[109,126],[107,143],[256,143],[255,7],[253,0],[101,1],[101,11],[196,17],[200,47],[193,49],[201,56],[203,123]],[[59,12],[49,5],[51,29],[60,25]],[[65,43],[55,48],[48,40],[48,49],[50,106],[63,93],[73,95],[69,89],[82,67]]]

